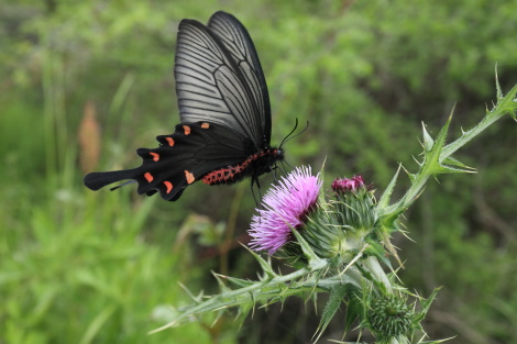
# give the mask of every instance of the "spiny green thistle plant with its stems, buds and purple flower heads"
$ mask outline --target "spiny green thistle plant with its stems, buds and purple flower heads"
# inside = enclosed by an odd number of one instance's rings
[[[337,314],[340,306],[344,304],[345,330],[348,331],[359,319],[360,331],[370,330],[375,343],[441,343],[442,341],[421,342],[421,339],[414,337],[415,331],[424,332],[420,322],[426,318],[437,289],[427,300],[416,297],[421,303],[421,310],[416,311],[417,302],[408,304],[405,293],[409,292],[396,281],[398,279],[396,273],[392,270],[386,275],[380,262],[392,268],[386,257],[392,254],[398,259],[391,237],[394,233],[406,232],[402,229],[400,218],[424,192],[430,177],[474,171],[473,168],[453,158],[452,154],[504,115],[508,114],[517,120],[517,85],[506,96],[503,96],[498,82],[496,87],[497,103],[494,108],[487,110],[477,125],[463,132],[454,142],[446,145],[451,118],[436,138],[432,138],[424,126],[422,159],[417,160],[418,171],[408,173],[411,185],[396,202],[392,202],[392,195],[398,171],[378,203],[361,177],[336,179],[332,182],[332,190],[337,201],[326,202],[324,198],[320,197],[316,206],[310,206],[314,200],[311,191],[317,184],[314,181],[315,177],[306,175],[304,179],[300,170],[296,169],[287,178],[283,178],[279,182],[282,187],[278,185],[273,187],[264,198],[262,207],[266,210],[258,210],[260,214],[254,219],[258,223],[262,220],[262,225],[252,231],[253,235],[263,232],[267,237],[282,233],[282,229],[270,229],[274,222],[267,220],[275,213],[283,214],[284,221],[292,225],[294,238],[282,244],[278,257],[284,258],[296,270],[282,276],[274,271],[271,262],[253,254],[262,268],[258,280],[216,275],[220,292],[208,298],[202,293],[191,297],[194,303],[179,309],[172,317],[169,324],[162,329],[178,325],[187,319],[198,318],[208,312],[218,312],[220,315],[222,311],[232,307],[238,307],[239,315],[245,317],[257,304],[282,302],[290,296],[298,296],[308,301],[317,293],[328,292],[330,297],[315,334],[317,339]],[[308,182],[309,180],[312,182]],[[286,186],[290,186],[293,190]],[[273,209],[268,201],[273,196],[276,209]],[[294,221],[286,214],[293,209],[295,201],[306,207],[305,210],[296,210],[306,213],[306,220],[301,225],[299,225],[301,220]],[[262,246],[253,244],[252,247],[260,246],[270,255],[276,252],[270,248],[267,242],[265,244]],[[234,289],[228,287],[224,280],[228,280]]]

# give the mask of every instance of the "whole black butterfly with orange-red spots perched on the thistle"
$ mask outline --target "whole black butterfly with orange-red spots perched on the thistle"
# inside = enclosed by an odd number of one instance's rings
[[[282,144],[271,146],[270,96],[261,63],[237,18],[219,11],[207,25],[183,20],[174,74],[180,120],[175,132],[157,136],[157,148],[139,148],[143,162],[138,168],[86,175],[88,188],[131,179],[120,186],[138,182],[139,193],[160,192],[175,201],[199,180],[223,185],[251,177],[252,187],[260,187],[258,176],[284,159]]]

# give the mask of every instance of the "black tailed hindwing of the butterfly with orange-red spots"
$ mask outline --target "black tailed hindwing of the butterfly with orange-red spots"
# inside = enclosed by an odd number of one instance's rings
[[[251,143],[224,126],[207,122],[182,123],[172,135],[161,135],[154,149],[139,148],[142,166],[109,173],[94,173],[85,178],[90,189],[123,179],[139,184],[138,192],[176,200],[190,184],[207,173],[244,160]]]

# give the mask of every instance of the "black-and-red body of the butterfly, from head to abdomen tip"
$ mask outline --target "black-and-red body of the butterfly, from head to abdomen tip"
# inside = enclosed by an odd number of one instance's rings
[[[271,170],[275,162],[284,158],[282,149],[268,148],[251,155],[244,162],[209,171],[202,177],[208,185],[233,184],[241,179]]]

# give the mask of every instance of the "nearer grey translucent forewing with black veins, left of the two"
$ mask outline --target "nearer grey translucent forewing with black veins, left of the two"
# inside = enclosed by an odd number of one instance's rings
[[[261,146],[258,110],[244,77],[220,41],[197,21],[179,24],[175,76],[183,123],[226,125]]]

